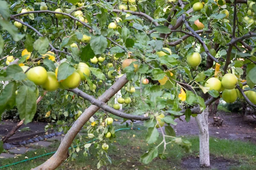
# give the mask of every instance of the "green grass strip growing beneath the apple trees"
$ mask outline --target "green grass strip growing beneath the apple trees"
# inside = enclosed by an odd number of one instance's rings
[[[117,126],[123,128],[125,126]],[[192,143],[192,153],[185,153],[184,150],[177,145],[168,145],[168,154],[166,160],[159,158],[154,159],[149,164],[140,163],[140,156],[148,150],[149,146],[145,142],[145,127],[138,126],[140,130],[121,130],[116,132],[116,142],[109,145],[108,153],[111,157],[112,164],[108,164],[109,170],[170,170],[184,169],[181,166],[182,159],[187,157],[196,157],[199,154],[199,139],[198,136],[186,136],[183,137],[188,139]],[[135,135],[135,137],[133,137]],[[158,139],[157,145],[161,139]],[[45,153],[55,151],[58,147],[58,143],[52,144],[50,147],[37,149],[36,151],[28,152],[15,159],[0,159],[0,166],[10,164],[16,161],[21,161],[27,156],[32,158]],[[160,147],[162,150],[163,147]],[[83,151],[79,152],[79,156],[76,157],[76,161],[65,161],[58,170],[96,170],[98,163],[96,158],[96,149],[90,147],[90,156],[84,157]],[[36,152],[36,154],[35,154]],[[160,153],[160,152],[159,152]],[[225,139],[210,138],[210,153],[214,158],[224,158],[227,160],[236,161],[234,166],[230,166],[230,170],[249,170],[256,169],[256,145],[250,142],[231,141]],[[50,155],[51,156],[51,155]],[[49,159],[50,156],[44,156],[31,161],[26,161],[17,165],[5,168],[6,170],[30,170],[32,167],[42,164],[44,161]],[[237,165],[239,164],[239,165]],[[103,168],[104,170],[106,168]]]

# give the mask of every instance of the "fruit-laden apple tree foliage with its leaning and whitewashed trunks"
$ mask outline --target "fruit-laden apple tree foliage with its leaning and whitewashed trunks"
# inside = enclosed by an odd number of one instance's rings
[[[207,106],[242,98],[256,107],[255,2],[216,1],[0,0],[0,114],[16,106],[22,123],[31,122],[37,99],[50,94],[46,128],[66,133],[35,169],[90,149],[98,168],[107,164],[116,137],[110,114],[145,121],[148,144],[161,134],[141,156],[145,164],[165,159],[167,144],[189,151],[171,125],[195,117],[200,164],[209,166]],[[94,142],[75,139],[82,127]]]

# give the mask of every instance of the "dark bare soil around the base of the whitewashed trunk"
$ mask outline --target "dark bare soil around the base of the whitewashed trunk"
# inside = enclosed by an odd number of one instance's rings
[[[232,166],[239,165],[238,162],[224,159],[222,157],[215,158],[210,156],[211,166],[208,168],[201,168],[199,166],[199,157],[188,157],[182,160],[181,166],[184,170],[228,170]]]

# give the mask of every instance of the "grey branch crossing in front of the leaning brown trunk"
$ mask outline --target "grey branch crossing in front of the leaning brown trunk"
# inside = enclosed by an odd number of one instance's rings
[[[131,115],[124,113],[122,111],[118,111],[114,108],[111,108],[108,106],[105,102],[100,101],[99,99],[95,99],[93,96],[90,96],[89,94],[84,93],[83,91],[79,90],[78,88],[75,88],[72,91],[73,93],[77,94],[78,96],[81,96],[83,99],[88,100],[91,102],[93,105],[98,106],[99,108],[102,108],[104,111],[107,111],[109,113],[112,113],[113,115],[129,119],[129,120],[148,120],[150,117],[145,117],[145,116],[138,116],[138,115]]]

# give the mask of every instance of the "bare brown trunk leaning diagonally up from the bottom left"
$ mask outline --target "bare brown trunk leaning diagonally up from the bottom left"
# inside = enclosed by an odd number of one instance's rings
[[[117,79],[117,81],[98,99],[102,102],[108,102],[108,100],[111,99],[111,97],[113,97],[127,82],[128,80],[126,79],[126,74],[124,74],[122,77]],[[99,107],[95,105],[90,105],[90,107],[87,108],[84,111],[84,113],[81,114],[81,116],[79,116],[79,118],[70,128],[70,130],[68,130],[67,134],[61,141],[61,144],[58,147],[56,153],[43,164],[39,165],[38,167],[35,167],[34,170],[55,170],[63,161],[65,161],[69,156],[68,148],[72,144],[77,133],[79,133],[84,124],[98,110]]]

